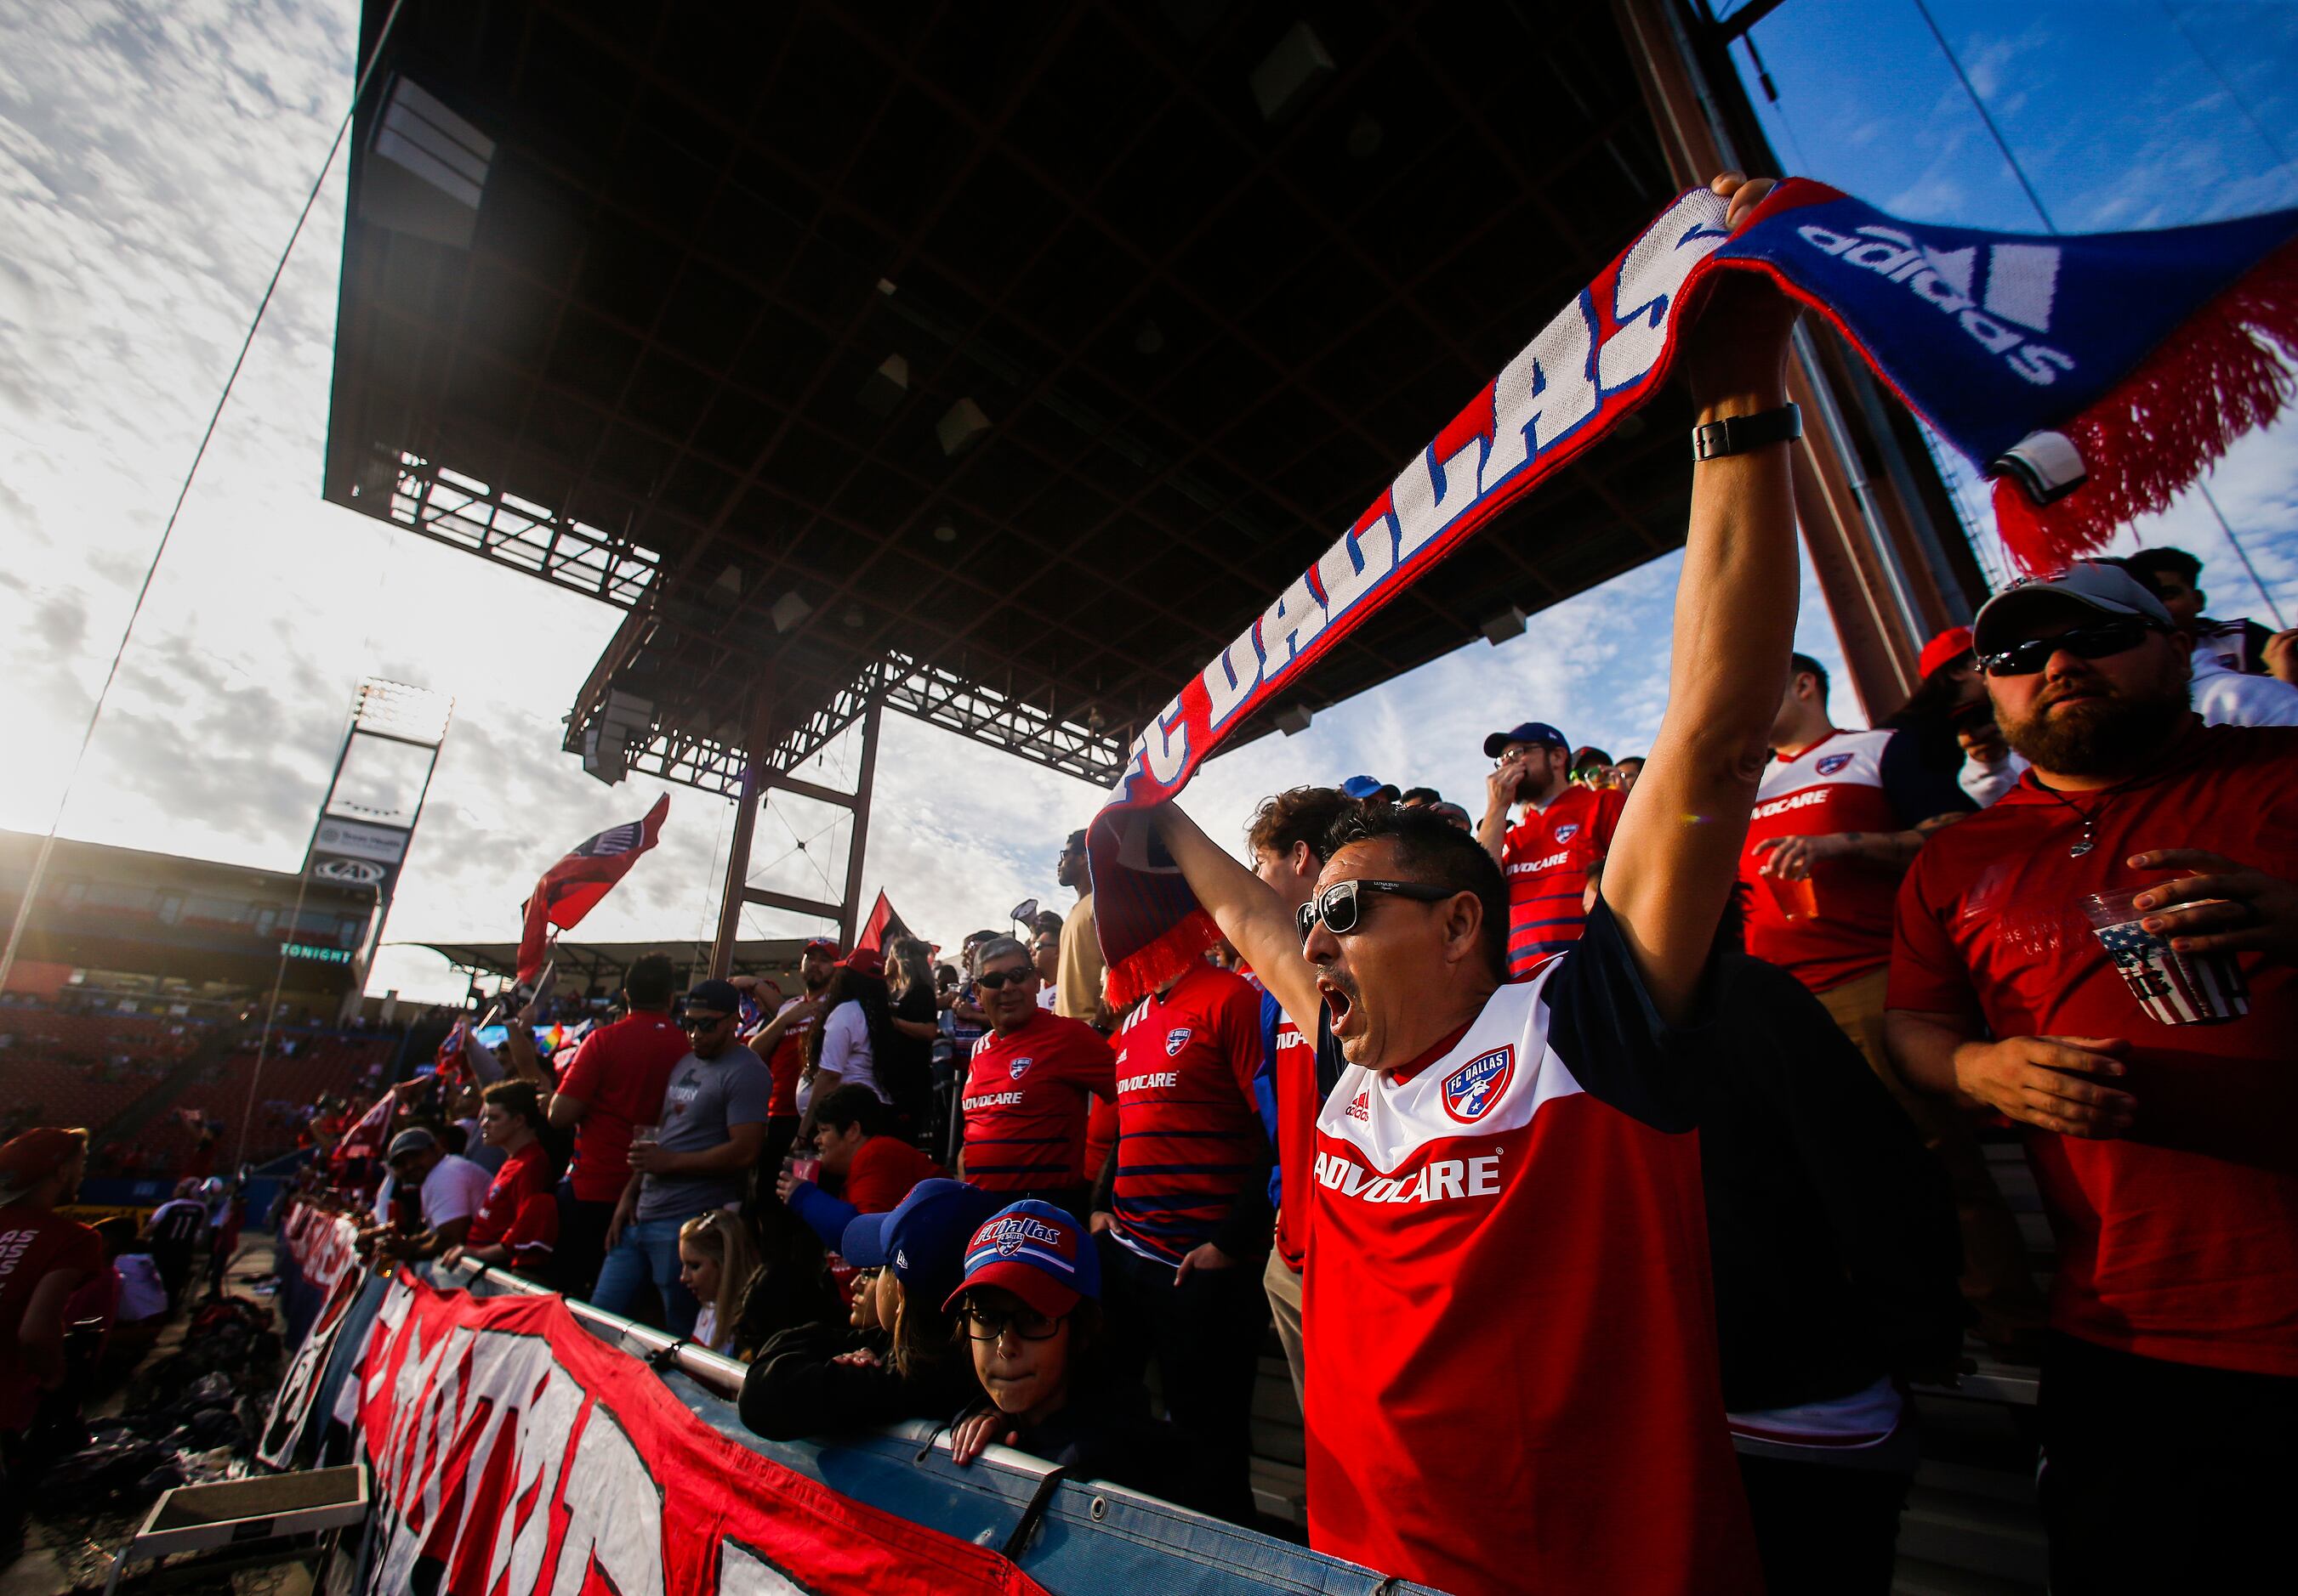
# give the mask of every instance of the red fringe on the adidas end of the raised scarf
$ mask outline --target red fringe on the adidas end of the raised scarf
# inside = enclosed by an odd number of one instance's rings
[[[2103,549],[2123,524],[2169,508],[2241,434],[2291,400],[2298,361],[2298,241],[2261,259],[2149,354],[2091,409],[2059,427],[2089,466],[2066,498],[2036,505],[1995,480],[1995,524],[2027,572]]]

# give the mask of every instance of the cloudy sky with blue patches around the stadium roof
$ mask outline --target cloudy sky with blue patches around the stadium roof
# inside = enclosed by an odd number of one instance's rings
[[[2298,7],[1933,0],[2011,175],[1912,0],[1795,0],[1753,30],[1788,165],[1914,220],[2162,227],[2298,204]],[[44,831],[177,482],[352,90],[352,0],[0,5],[0,827]],[[1742,53],[1742,69],[1753,73]],[[1760,94],[1760,92],[1758,92]],[[294,868],[363,675],[455,698],[391,921],[395,944],[508,939],[535,873],[655,799],[558,753],[616,611],[319,503],[342,243],[333,165],[62,813],[76,838]],[[1466,395],[1462,395],[1466,400]],[[1432,416],[1432,427],[1443,420]],[[2213,478],[2264,576],[2188,496],[2135,542],[2208,560],[2218,613],[2298,618],[2298,432]],[[1981,556],[1992,524],[1962,494]],[[1291,572],[1271,572],[1271,590]],[[1657,560],[1377,694],[1303,737],[1216,760],[1188,806],[1234,834],[1262,792],[1351,772],[1473,801],[1478,739],[1542,716],[1613,753],[1650,744],[1675,560]],[[1834,657],[1806,588],[1802,645]],[[1848,716],[1850,719],[1850,716]],[[823,756],[839,781],[853,749]],[[1023,896],[1059,902],[1052,852],[1092,788],[887,719],[866,882],[954,942]],[[662,850],[584,937],[708,937],[731,806],[673,788]],[[795,845],[804,843],[804,850]],[[827,893],[832,811],[774,801],[761,884]],[[804,928],[751,912],[749,935]],[[453,997],[414,946],[375,990]]]

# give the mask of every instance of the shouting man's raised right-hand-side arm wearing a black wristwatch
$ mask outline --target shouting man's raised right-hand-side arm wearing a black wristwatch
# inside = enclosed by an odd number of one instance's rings
[[[1730,197],[1726,227],[1737,227],[1772,188],[1737,172],[1712,186]],[[1788,402],[1795,315],[1795,303],[1765,280],[1717,278],[1678,361],[1701,423]],[[1668,712],[1604,870],[1604,900],[1671,1020],[1691,1001],[1730,896],[1795,645],[1790,448],[1769,443],[1691,468]]]

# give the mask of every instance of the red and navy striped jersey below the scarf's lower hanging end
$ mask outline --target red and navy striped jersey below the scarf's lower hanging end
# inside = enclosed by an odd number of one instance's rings
[[[1246,1185],[1266,1180],[1262,992],[1204,964],[1144,997],[1117,1045],[1112,1233],[1144,1258],[1179,1263],[1213,1240]],[[1266,1201],[1266,1196],[1262,1196]]]

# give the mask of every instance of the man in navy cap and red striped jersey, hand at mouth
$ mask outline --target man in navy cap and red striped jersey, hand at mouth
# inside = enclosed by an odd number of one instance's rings
[[[1572,744],[1544,721],[1491,733],[1485,758],[1491,774],[1475,838],[1507,877],[1507,974],[1526,976],[1579,942],[1581,893],[1604,868],[1627,799],[1572,781]],[[1517,824],[1507,824],[1512,804],[1524,804]]]

